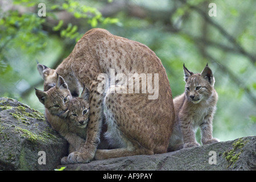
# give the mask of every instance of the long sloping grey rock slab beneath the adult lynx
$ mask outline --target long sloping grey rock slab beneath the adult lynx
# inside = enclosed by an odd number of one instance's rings
[[[214,156],[216,164],[213,163]],[[59,167],[64,166],[65,170],[77,171],[256,170],[256,137],[184,148],[166,154],[94,160],[87,164],[68,164]]]

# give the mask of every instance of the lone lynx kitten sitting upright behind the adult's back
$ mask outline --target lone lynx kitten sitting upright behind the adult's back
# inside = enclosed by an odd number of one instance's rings
[[[212,138],[212,121],[218,94],[213,88],[214,77],[207,66],[201,73],[192,73],[183,65],[185,92],[174,98],[175,124],[168,151],[199,146],[195,131],[201,129],[203,144],[218,142]]]

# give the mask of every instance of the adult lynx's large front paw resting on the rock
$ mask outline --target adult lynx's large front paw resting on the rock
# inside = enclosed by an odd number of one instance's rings
[[[71,164],[75,163],[89,163],[93,159],[93,156],[90,156],[86,153],[72,152],[68,155],[68,162]]]

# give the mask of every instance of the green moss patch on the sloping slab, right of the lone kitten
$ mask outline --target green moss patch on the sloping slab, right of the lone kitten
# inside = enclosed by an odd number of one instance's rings
[[[243,141],[242,138],[238,139],[236,142],[232,144],[232,150],[226,151],[223,153],[225,159],[228,161],[229,165],[227,166],[234,166],[234,164],[239,159],[240,155],[242,154],[242,148],[248,141]]]

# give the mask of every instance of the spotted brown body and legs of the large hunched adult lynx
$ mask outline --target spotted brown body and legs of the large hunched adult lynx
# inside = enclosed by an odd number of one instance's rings
[[[158,80],[152,79],[158,81],[158,98],[149,100],[151,93],[143,93],[142,86],[139,86],[139,93],[117,93],[117,90],[127,88],[111,81],[105,86],[105,92],[98,92],[98,86],[104,79],[98,76],[104,73],[111,78],[113,70],[114,75],[157,74]],[[72,95],[79,95],[79,83],[90,90],[87,139],[80,152],[69,154],[70,163],[90,162],[95,154],[96,159],[108,159],[167,151],[174,123],[172,93],[161,61],[147,46],[94,28],[82,36],[56,70],[51,70],[53,78],[57,74],[65,79]],[[147,82],[146,86],[152,85]],[[104,107],[108,135],[119,140],[123,148],[96,152],[105,117]]]

